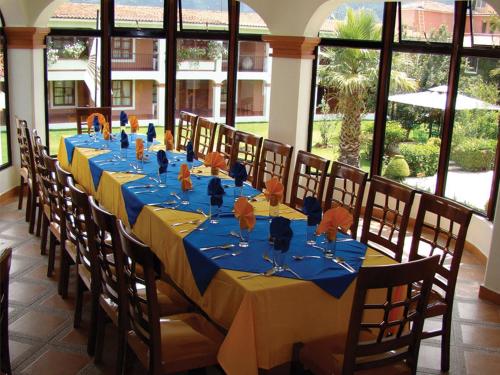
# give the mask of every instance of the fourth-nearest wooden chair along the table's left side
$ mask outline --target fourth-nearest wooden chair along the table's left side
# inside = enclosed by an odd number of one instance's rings
[[[73,182],[73,175],[65,171],[59,163],[56,164],[56,182],[59,199],[59,216],[61,218],[61,257],[59,275],[59,294],[62,298],[68,297],[69,269],[76,264],[78,254],[78,240],[75,237],[75,218],[69,182]]]

